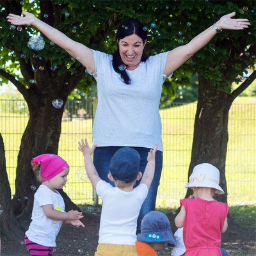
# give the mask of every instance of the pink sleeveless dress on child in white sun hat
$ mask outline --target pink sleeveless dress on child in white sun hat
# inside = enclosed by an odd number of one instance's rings
[[[221,256],[221,231],[228,214],[228,205],[202,198],[180,200],[186,217],[183,239],[186,256]]]

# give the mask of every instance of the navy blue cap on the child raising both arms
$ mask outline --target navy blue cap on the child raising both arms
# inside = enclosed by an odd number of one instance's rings
[[[140,154],[129,147],[118,149],[109,163],[109,172],[115,180],[127,183],[136,180],[140,172]]]

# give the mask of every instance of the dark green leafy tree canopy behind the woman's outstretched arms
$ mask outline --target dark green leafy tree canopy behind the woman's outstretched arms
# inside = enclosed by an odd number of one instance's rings
[[[136,17],[148,30],[149,40],[146,48],[148,55],[169,51],[186,44],[195,35],[211,26],[221,15],[236,12],[236,17],[250,20],[252,26],[249,29],[223,31],[182,65],[173,74],[172,79],[166,81],[164,91],[169,93],[173,93],[174,88],[179,85],[189,85],[189,77],[195,71],[204,74],[205,78],[212,81],[212,85],[230,93],[230,84],[234,81],[239,82],[241,79],[238,75],[242,76],[246,67],[255,63],[256,26],[253,0],[1,1],[0,65],[7,73],[0,77],[2,83],[15,77],[22,86],[31,88],[36,86],[33,84],[36,76],[33,70],[40,72],[41,67],[59,74],[67,71],[74,74],[78,72],[77,67],[80,66],[78,61],[70,58],[69,54],[57,45],[52,45],[45,37],[44,49],[41,51],[29,49],[28,40],[32,35],[37,35],[38,31],[31,26],[11,27],[5,19],[8,12],[20,14],[22,10],[34,13],[54,28],[60,29],[67,36],[92,49],[109,53],[115,51],[115,33],[118,24],[128,17]],[[20,72],[17,72],[20,70],[20,62],[26,62],[31,72],[20,76]],[[45,65],[47,67],[44,67]],[[92,77],[84,73],[78,88],[89,90],[92,83]]]

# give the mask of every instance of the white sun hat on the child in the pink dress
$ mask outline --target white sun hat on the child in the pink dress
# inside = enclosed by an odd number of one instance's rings
[[[224,194],[223,189],[219,186],[220,171],[218,168],[209,163],[198,164],[194,167],[189,177],[189,182],[185,188],[215,188],[217,194]]]

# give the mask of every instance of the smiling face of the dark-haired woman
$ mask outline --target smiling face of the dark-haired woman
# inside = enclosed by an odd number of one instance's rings
[[[145,44],[146,43],[147,40],[145,41]],[[142,39],[140,36],[133,34],[120,39],[118,44],[122,61],[127,66],[128,70],[134,70],[140,65],[141,56],[145,46]]]

